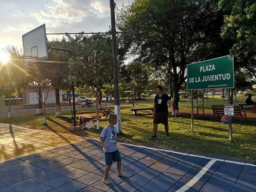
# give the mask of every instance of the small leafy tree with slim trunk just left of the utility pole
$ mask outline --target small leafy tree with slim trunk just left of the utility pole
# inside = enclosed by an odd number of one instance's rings
[[[87,84],[96,95],[97,129],[99,129],[99,101],[104,84],[110,83],[113,74],[111,38],[108,35],[68,36],[75,43],[76,54],[70,59],[77,85]]]

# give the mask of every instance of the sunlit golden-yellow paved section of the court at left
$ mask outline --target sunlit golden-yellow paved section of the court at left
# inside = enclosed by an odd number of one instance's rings
[[[83,138],[0,123],[0,162],[45,151]]]

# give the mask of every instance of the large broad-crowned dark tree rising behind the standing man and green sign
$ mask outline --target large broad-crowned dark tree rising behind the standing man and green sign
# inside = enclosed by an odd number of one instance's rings
[[[118,27],[134,55],[142,62],[165,66],[175,115],[178,91],[186,80],[186,65],[211,58],[209,29],[217,32],[217,0],[135,0],[122,9]],[[206,50],[207,54],[202,54]]]

